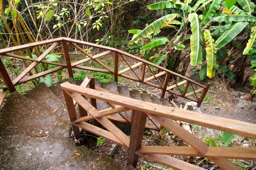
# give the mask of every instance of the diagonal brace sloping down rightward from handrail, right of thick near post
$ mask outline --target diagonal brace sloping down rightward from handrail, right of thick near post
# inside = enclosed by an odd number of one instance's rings
[[[180,139],[191,145],[194,149],[196,149],[201,154],[205,154],[208,145],[206,145],[203,141],[189,133],[182,126],[178,125],[178,123],[174,122],[172,119],[167,119],[165,117],[161,117],[158,115],[150,115],[154,120],[158,121],[161,125],[166,127],[169,131],[177,135]]]

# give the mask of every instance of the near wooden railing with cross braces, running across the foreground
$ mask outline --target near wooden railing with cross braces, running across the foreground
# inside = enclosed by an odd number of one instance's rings
[[[239,168],[229,159],[256,160],[256,147],[209,147],[173,120],[193,123],[256,139],[256,125],[253,123],[143,102],[117,94],[111,94],[109,92],[76,86],[69,82],[62,83],[61,88],[64,92],[66,104],[68,106],[72,127],[75,127],[73,128],[73,130],[76,131],[74,134],[78,134],[75,137],[80,137],[79,128],[81,128],[125,147],[128,149],[127,165],[136,167],[138,156],[143,156],[144,158],[154,160],[160,164],[175,169],[203,169],[169,156],[181,155],[207,157],[224,170],[236,170]],[[98,111],[82,96],[115,104],[116,107]],[[80,109],[84,110],[87,115],[80,115],[79,118],[76,117],[73,100],[81,106],[79,107],[79,111]],[[127,110],[132,110],[130,138],[108,119],[108,116],[114,113],[120,113]],[[147,115],[177,135],[180,139],[190,145],[190,147],[142,146],[142,137]],[[98,121],[107,130],[87,123],[86,121],[89,120]]]

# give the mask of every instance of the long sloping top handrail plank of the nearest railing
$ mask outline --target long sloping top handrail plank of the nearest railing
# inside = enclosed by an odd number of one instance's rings
[[[224,117],[178,109],[174,107],[152,104],[150,102],[143,102],[128,97],[121,98],[120,96],[117,96],[115,94],[109,94],[105,92],[100,92],[98,90],[82,88],[74,84],[70,84],[69,82],[62,83],[61,87],[64,90],[70,90],[78,94],[82,94],[88,97],[94,97],[103,101],[108,101],[113,104],[128,107],[130,109],[137,109],[138,111],[159,115],[173,120],[180,120],[256,139],[256,125],[254,123],[248,123],[234,119],[227,119]],[[116,100],[117,98],[118,100]]]

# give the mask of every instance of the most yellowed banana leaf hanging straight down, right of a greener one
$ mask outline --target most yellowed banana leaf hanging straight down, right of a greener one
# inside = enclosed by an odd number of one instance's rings
[[[207,76],[212,78],[215,74],[218,64],[216,64],[216,46],[214,39],[208,29],[204,31],[204,39],[206,40],[206,63],[207,63]]]

